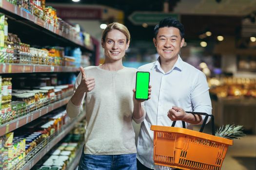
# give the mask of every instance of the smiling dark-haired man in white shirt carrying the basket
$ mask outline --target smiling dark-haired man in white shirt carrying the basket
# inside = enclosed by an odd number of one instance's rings
[[[192,129],[192,124],[201,124],[204,116],[194,116],[185,111],[208,114],[212,111],[205,75],[179,56],[184,44],[183,25],[174,18],[165,18],[155,27],[154,34],[158,60],[138,68],[150,72],[152,85],[151,99],[145,101],[146,118],[141,123],[138,136],[138,170],[171,169],[154,165],[151,125],[171,126],[174,120],[183,120],[186,128]],[[177,121],[175,126],[182,127],[182,121]]]

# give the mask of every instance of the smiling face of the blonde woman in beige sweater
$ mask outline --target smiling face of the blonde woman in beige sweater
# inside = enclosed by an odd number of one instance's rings
[[[130,41],[126,43],[126,40],[126,36],[118,30],[108,32],[106,39],[101,40],[105,56],[112,61],[122,59],[125,54],[125,50],[128,49],[130,43]]]

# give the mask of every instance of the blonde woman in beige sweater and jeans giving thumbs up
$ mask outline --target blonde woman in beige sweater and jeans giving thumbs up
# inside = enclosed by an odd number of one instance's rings
[[[101,39],[104,64],[80,68],[67,104],[67,114],[74,118],[85,98],[85,145],[79,170],[137,170],[132,119],[142,122],[145,111],[134,98],[137,69],[122,65],[129,43],[130,33],[124,25],[109,24]]]

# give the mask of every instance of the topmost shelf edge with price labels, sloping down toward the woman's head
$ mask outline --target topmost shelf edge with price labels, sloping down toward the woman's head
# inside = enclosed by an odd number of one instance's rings
[[[6,0],[0,0],[0,12],[7,15],[12,20],[18,20],[20,23],[25,24],[35,30],[45,32],[45,34],[56,35],[58,39],[62,41],[68,40],[69,43],[73,43],[75,46],[79,46],[85,50],[93,51],[93,46],[85,46],[81,40],[71,34],[67,34],[56,27],[53,24],[48,24],[39,17],[31,15],[26,11],[20,9],[17,5],[14,5]],[[49,41],[49,40],[48,40]]]

